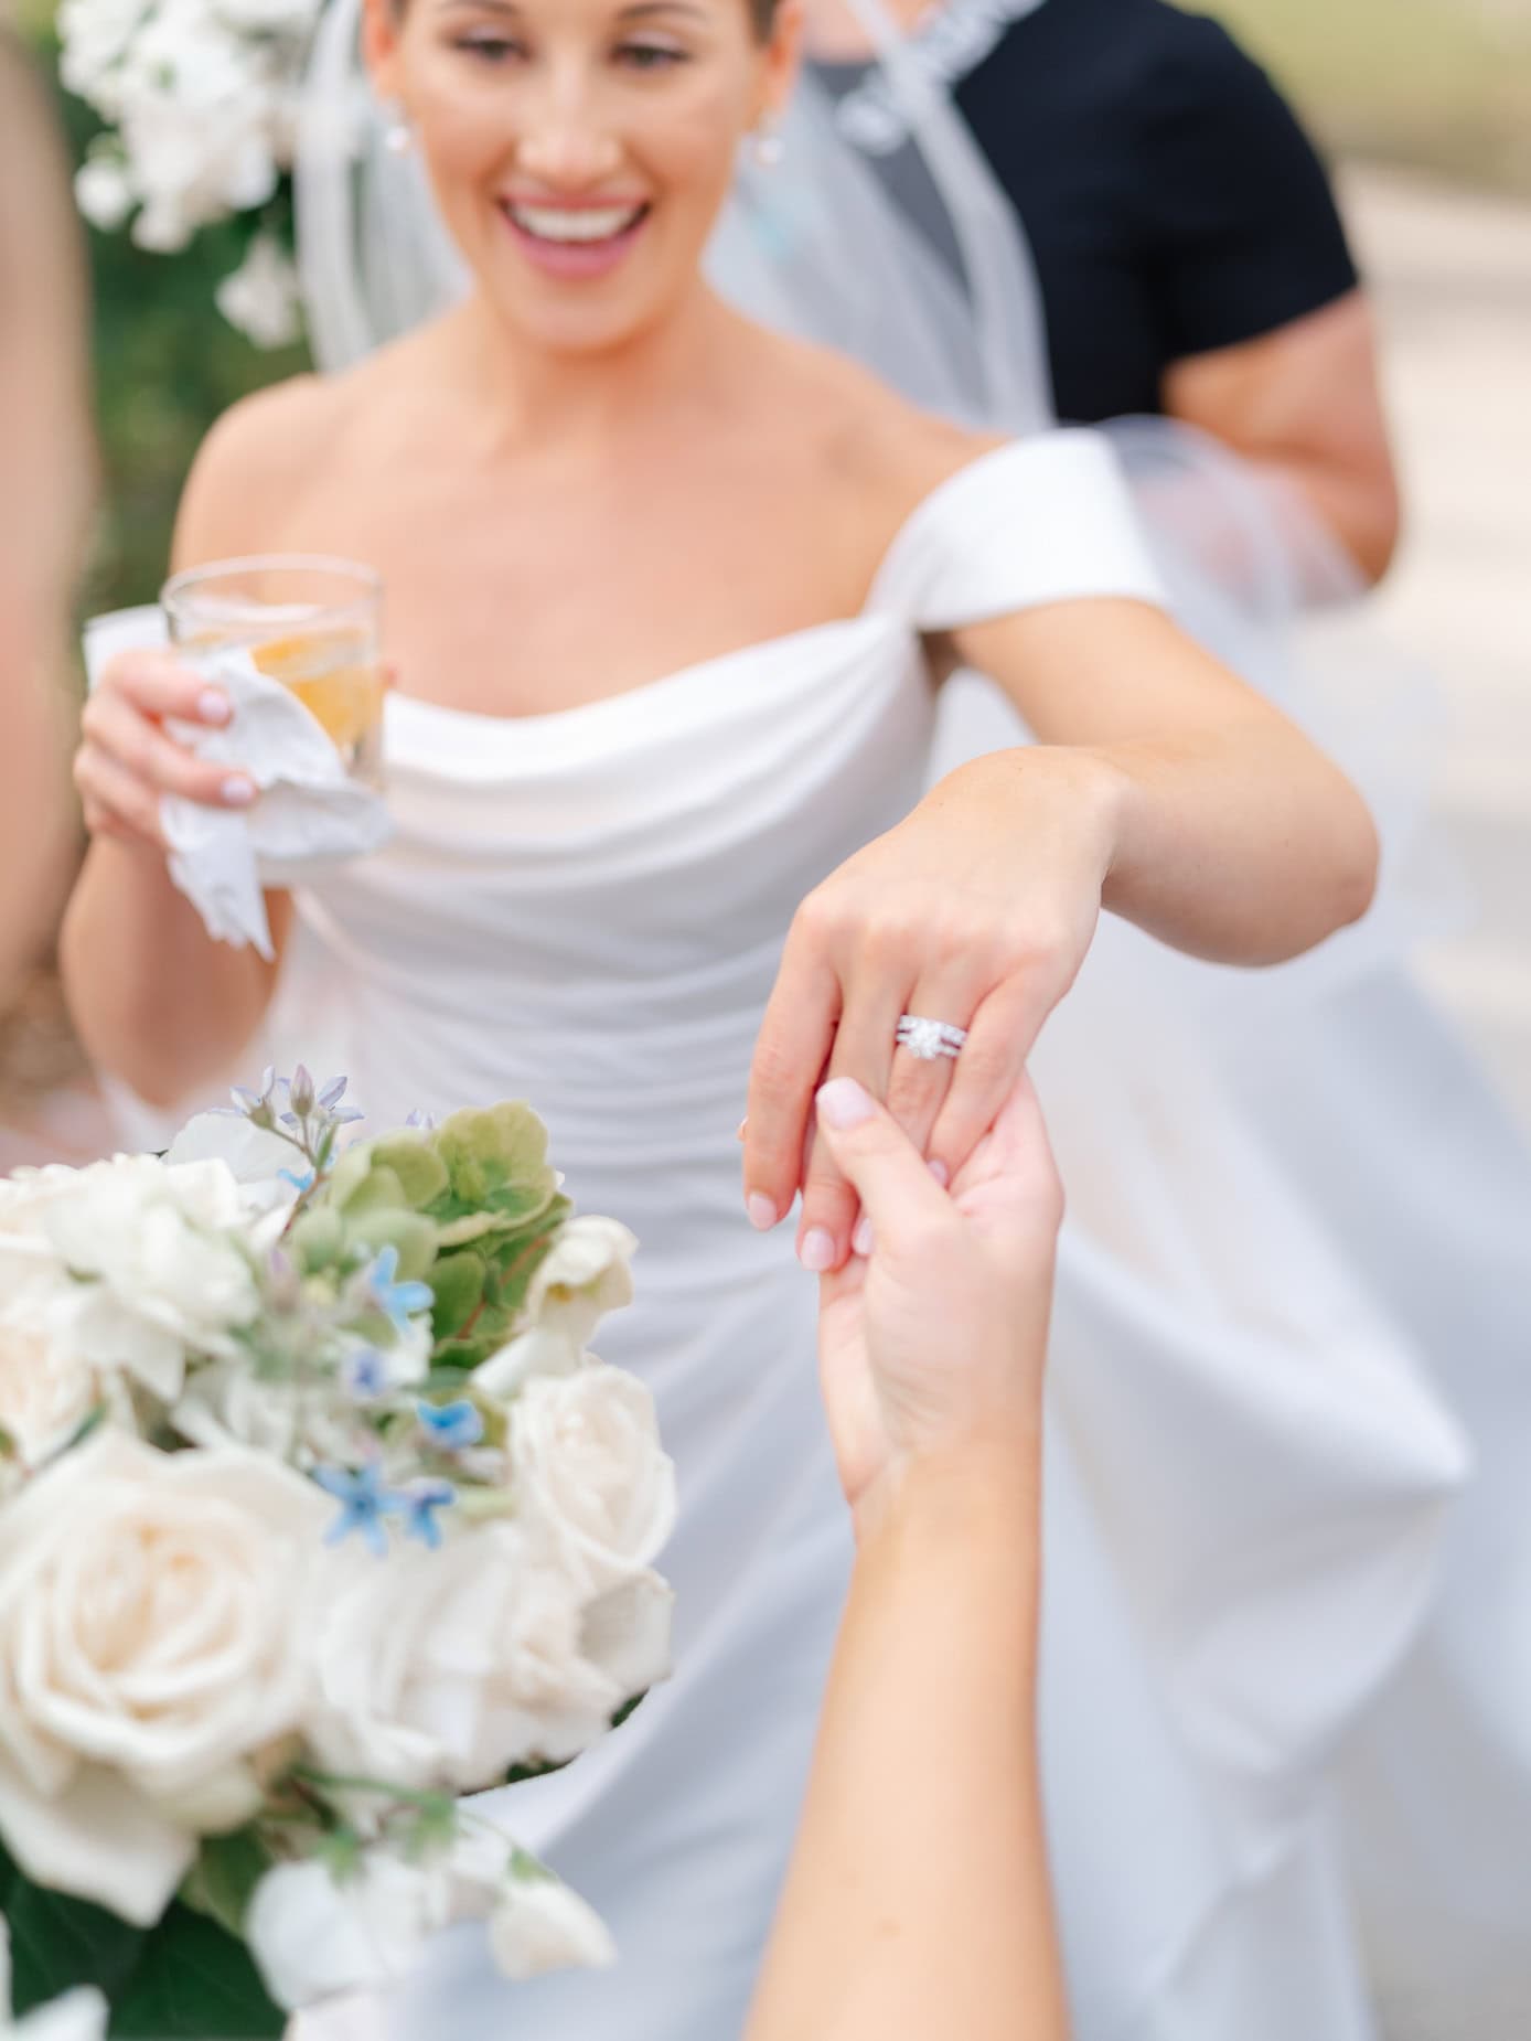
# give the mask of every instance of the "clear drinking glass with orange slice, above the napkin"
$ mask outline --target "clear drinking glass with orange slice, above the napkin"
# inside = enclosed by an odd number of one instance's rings
[[[184,651],[243,647],[292,688],[367,786],[382,784],[382,578],[351,559],[261,553],[165,582],[159,604]]]

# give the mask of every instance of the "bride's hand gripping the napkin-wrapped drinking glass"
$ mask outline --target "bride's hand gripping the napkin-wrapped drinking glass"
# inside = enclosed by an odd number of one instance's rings
[[[80,718],[73,778],[92,837],[163,851],[159,800],[180,794],[208,808],[247,808],[255,784],[194,757],[165,718],[223,729],[229,700],[174,653],[125,651],[106,665]]]

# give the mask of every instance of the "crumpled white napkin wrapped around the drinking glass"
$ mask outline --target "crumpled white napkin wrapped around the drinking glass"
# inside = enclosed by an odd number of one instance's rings
[[[118,651],[163,645],[157,610],[118,610],[86,627],[92,686]],[[202,916],[208,935],[269,959],[271,929],[263,886],[292,886],[341,857],[376,851],[392,835],[382,798],[345,771],[341,753],[296,694],[255,669],[247,651],[188,655],[208,684],[229,696],[220,729],[167,723],[198,757],[245,771],[259,788],[249,808],[208,808],[165,796],[159,823],[169,876]]]

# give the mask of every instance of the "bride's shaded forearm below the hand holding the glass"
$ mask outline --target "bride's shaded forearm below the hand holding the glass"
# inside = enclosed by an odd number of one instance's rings
[[[267,894],[278,953],[290,906]],[[90,1059],[151,1104],[218,1080],[259,1027],[276,965],[214,943],[151,849],[98,841],[63,916],[63,986]]]

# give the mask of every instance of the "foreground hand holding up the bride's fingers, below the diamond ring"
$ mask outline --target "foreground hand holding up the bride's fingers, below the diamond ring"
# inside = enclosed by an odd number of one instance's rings
[[[1064,1190],[1025,1076],[949,1194],[853,1080],[819,1094],[819,1135],[870,1227],[819,1308],[829,1431],[866,1519],[917,1459],[1035,1441]]]

